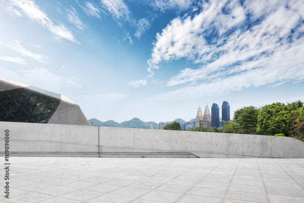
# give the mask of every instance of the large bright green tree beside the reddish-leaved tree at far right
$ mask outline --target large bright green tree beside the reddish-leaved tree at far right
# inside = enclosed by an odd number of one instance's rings
[[[257,130],[264,135],[283,133],[291,130],[290,117],[297,110],[296,105],[273,103],[261,108],[257,118]]]

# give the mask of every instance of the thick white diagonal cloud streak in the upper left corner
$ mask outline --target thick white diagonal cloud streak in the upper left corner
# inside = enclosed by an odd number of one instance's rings
[[[65,38],[70,41],[75,41],[72,33],[70,30],[68,30],[63,24],[55,25],[48,17],[47,14],[42,12],[38,5],[36,5],[35,2],[30,0],[9,0],[7,4],[10,7],[18,7],[20,12],[22,12],[24,15],[32,19],[33,21],[36,21],[40,23],[42,26],[49,29],[52,33],[55,35]],[[15,13],[20,13],[17,9],[13,8],[15,10]],[[18,14],[18,16],[20,16]]]

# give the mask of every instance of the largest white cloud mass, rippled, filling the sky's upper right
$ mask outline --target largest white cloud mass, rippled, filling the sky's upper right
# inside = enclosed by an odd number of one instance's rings
[[[191,94],[199,97],[299,79],[304,76],[303,6],[301,1],[209,1],[195,17],[175,18],[157,33],[148,71],[181,58],[200,64],[167,82],[190,83]],[[156,97],[168,99],[181,90]]]

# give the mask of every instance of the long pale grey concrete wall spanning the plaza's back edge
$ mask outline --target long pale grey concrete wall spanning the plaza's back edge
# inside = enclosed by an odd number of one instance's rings
[[[137,128],[0,122],[10,156],[304,158],[294,138]]]

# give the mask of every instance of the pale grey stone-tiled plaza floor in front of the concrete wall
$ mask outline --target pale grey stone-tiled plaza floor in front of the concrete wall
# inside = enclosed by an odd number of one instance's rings
[[[3,202],[304,202],[304,159],[0,159]]]

